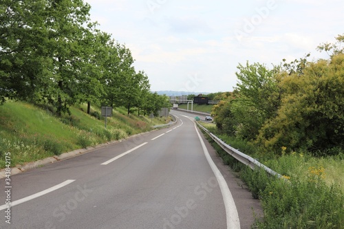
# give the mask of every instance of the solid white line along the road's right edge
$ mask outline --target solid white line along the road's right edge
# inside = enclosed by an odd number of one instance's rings
[[[224,179],[224,176],[221,174],[213,160],[211,159],[211,155],[209,155],[208,149],[206,149],[206,145],[204,144],[200,133],[197,130],[196,124],[195,129],[198,135],[198,138],[200,138],[200,142],[202,144],[202,148],[204,151],[204,155],[206,155],[206,160],[208,161],[208,164],[211,166],[211,170],[213,171],[217,182],[219,183],[219,188],[221,189],[222,197],[224,198],[224,207],[226,209],[226,219],[227,219],[227,229],[240,229],[240,221],[239,221],[239,215],[237,213],[237,207],[235,206],[235,202],[232,196],[232,193],[230,193],[230,190],[228,188],[227,182]]]

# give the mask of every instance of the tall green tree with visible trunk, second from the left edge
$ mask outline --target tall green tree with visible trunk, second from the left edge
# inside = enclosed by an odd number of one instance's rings
[[[90,6],[83,0],[55,0],[47,4],[45,27],[49,32],[48,50],[54,63],[54,78],[48,100],[56,103],[58,115],[69,112],[78,102],[80,84],[85,82],[85,43],[94,28],[90,23]]]

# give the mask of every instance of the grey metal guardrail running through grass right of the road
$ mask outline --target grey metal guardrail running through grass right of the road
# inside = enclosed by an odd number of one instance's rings
[[[224,151],[226,151],[229,155],[231,155],[232,157],[234,157],[235,159],[237,159],[239,162],[241,162],[242,164],[245,164],[246,166],[250,166],[250,168],[255,169],[257,167],[259,168],[264,168],[264,170],[266,172],[268,172],[271,175],[275,175],[277,177],[283,177],[282,175],[280,175],[279,173],[276,173],[275,171],[273,171],[271,168],[268,168],[267,166],[265,166],[264,164],[261,164],[260,162],[258,162],[257,160],[255,160],[254,158],[250,157],[249,155],[246,155],[245,153],[241,153],[240,151],[238,151],[237,149],[234,149],[232,146],[226,144],[226,142],[222,141],[221,139],[217,138],[217,136],[215,136],[213,133],[211,133],[210,131],[208,131],[208,129],[204,128],[201,124],[199,124],[198,122],[196,122],[197,125],[199,127],[201,127],[204,131],[206,131],[206,133],[208,133],[209,136],[211,136],[211,138],[219,145],[221,146],[222,149],[224,149]]]

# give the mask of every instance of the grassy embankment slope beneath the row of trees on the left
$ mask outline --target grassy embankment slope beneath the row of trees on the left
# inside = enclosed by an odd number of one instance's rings
[[[8,101],[0,106],[0,168],[10,152],[11,166],[60,155],[75,149],[120,140],[129,135],[150,131],[154,124],[168,119],[150,119],[131,114],[124,108],[114,109],[112,117],[104,118],[100,109],[88,115],[86,105],[71,107],[71,116],[57,118],[50,107],[39,108],[27,102]]]

